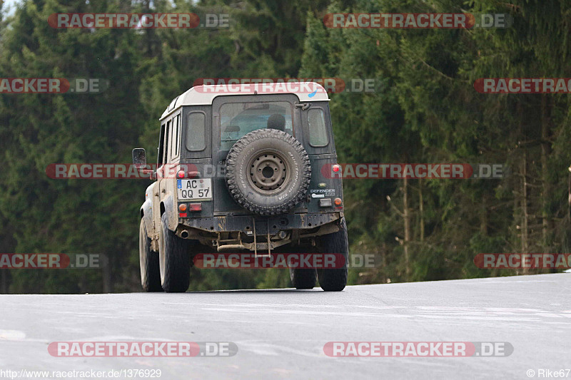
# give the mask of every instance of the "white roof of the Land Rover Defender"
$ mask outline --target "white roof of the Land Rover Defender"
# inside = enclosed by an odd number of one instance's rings
[[[180,106],[209,106],[217,96],[293,93],[300,102],[329,101],[327,91],[315,82],[244,83],[194,86],[174,98],[161,120]]]

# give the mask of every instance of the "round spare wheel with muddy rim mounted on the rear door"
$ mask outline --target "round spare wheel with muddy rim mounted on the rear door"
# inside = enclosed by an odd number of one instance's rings
[[[248,133],[236,141],[226,158],[228,191],[254,214],[288,212],[305,199],[310,179],[308,153],[298,140],[281,130]]]

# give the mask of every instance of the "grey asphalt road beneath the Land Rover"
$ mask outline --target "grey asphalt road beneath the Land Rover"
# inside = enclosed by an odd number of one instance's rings
[[[1,371],[21,369],[161,369],[166,380],[540,379],[549,374],[541,376],[541,369],[571,369],[570,290],[571,274],[562,273],[355,286],[340,293],[2,295],[0,378]],[[68,341],[233,342],[238,352],[175,358],[49,354],[51,342]],[[323,346],[337,341],[508,342],[513,352],[326,356]]]

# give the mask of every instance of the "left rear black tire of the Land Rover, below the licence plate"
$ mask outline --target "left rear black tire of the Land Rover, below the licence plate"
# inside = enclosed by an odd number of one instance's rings
[[[158,256],[163,290],[167,293],[186,292],[191,282],[191,255],[188,252],[188,241],[168,230],[166,212],[161,216]]]

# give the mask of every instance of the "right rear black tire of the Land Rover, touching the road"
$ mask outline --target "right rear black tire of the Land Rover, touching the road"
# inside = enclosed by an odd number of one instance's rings
[[[345,219],[341,222],[340,227],[341,229],[338,232],[324,235],[320,238],[322,253],[340,253],[345,257],[345,265],[342,268],[317,270],[319,285],[325,292],[340,292],[345,289],[347,284],[349,242]]]

